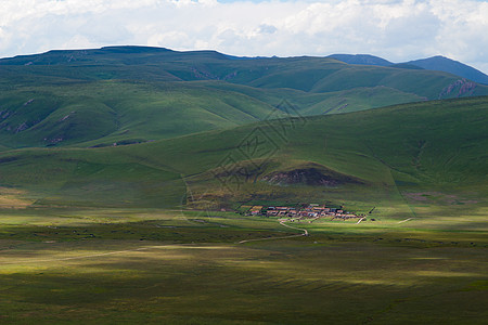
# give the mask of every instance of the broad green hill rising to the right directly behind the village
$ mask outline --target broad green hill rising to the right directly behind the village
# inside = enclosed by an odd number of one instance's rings
[[[388,216],[486,208],[488,98],[287,118],[130,146],[0,153],[0,185],[44,205],[333,202]],[[300,178],[296,181],[296,177]],[[440,208],[439,208],[440,209]],[[440,211],[440,210],[438,210]]]

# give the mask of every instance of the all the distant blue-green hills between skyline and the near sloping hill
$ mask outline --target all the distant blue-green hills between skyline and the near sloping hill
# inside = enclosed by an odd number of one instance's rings
[[[140,143],[290,114],[488,94],[441,72],[138,47],[3,58],[0,90],[8,147]],[[283,101],[293,112],[277,114]]]

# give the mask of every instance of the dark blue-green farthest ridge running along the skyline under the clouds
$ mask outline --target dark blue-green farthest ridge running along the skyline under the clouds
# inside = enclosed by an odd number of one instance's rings
[[[158,48],[112,47],[99,50],[51,51],[0,60],[2,81],[14,84],[49,81],[130,79],[145,81],[223,80],[257,88],[290,88],[312,92],[357,87],[390,87],[429,100],[459,77],[441,72],[349,65],[329,57],[243,58],[213,51],[177,52]],[[33,77],[40,78],[34,80]],[[60,80],[61,79],[61,80]],[[412,80],[416,82],[411,82]],[[11,83],[12,84],[12,83]],[[487,94],[477,86],[461,95]],[[459,93],[444,94],[442,98]]]

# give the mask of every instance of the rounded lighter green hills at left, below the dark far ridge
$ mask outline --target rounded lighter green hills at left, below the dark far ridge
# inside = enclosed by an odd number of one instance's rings
[[[11,147],[139,143],[262,120],[272,109],[239,92],[180,82],[25,87],[2,92],[0,102],[0,143]]]

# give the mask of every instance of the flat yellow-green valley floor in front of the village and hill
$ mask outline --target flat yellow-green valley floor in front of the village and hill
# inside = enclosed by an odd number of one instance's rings
[[[230,212],[0,214],[2,324],[483,324],[488,316],[483,227],[318,220],[294,225],[309,236],[237,244],[301,231]]]

